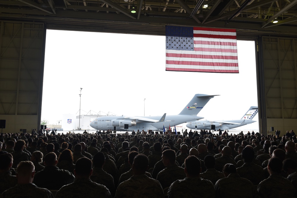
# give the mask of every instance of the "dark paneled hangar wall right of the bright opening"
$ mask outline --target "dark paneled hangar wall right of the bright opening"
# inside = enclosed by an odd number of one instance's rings
[[[297,127],[297,69],[295,38],[263,37],[263,67],[267,132]],[[268,133],[271,134],[271,133]]]

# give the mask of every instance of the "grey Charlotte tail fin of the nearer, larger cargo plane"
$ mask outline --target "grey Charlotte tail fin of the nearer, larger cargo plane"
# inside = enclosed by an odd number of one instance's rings
[[[197,115],[206,103],[214,96],[218,95],[195,94],[192,100],[178,115]]]

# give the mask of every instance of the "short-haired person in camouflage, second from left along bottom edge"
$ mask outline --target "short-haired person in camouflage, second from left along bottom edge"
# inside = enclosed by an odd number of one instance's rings
[[[96,182],[92,182],[92,161],[86,157],[78,159],[75,164],[75,181],[63,186],[57,193],[56,198],[72,197],[102,197],[111,198],[109,190]]]

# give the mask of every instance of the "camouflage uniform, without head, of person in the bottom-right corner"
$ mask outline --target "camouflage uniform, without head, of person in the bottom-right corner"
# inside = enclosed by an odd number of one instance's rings
[[[294,197],[296,189],[290,180],[280,174],[271,174],[258,185],[258,193],[261,197]]]

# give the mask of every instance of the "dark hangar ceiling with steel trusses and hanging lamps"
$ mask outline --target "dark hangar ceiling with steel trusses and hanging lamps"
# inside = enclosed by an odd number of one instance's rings
[[[239,35],[296,35],[296,4],[297,0],[0,0],[0,17],[42,21],[53,29],[80,25],[89,31],[134,34],[164,35],[164,25],[171,24],[236,28]],[[278,23],[272,23],[276,18]]]

